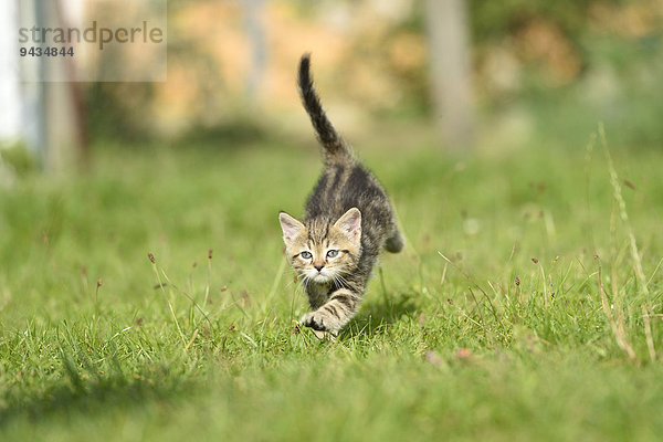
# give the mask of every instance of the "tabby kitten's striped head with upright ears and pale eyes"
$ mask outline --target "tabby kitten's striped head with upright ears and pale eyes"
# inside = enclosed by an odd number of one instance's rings
[[[278,214],[285,253],[297,274],[307,281],[343,281],[357,265],[361,251],[361,212],[351,208],[336,222],[308,224],[285,212]]]

